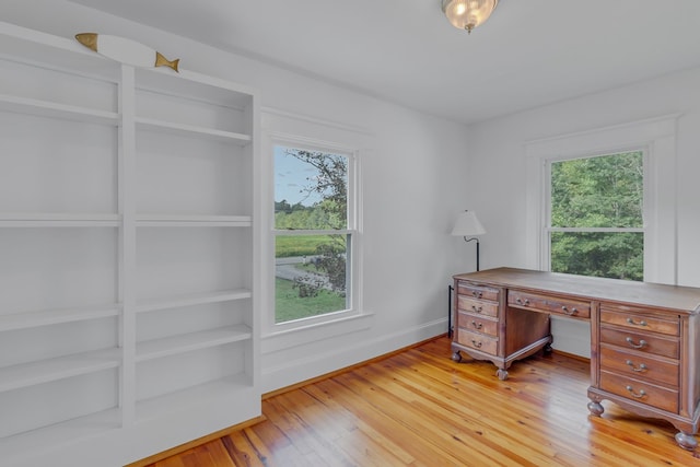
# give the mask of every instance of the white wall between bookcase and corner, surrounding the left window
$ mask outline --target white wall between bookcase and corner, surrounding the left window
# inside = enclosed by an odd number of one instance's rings
[[[466,196],[464,126],[62,0],[9,0],[0,12],[2,21],[62,37],[128,37],[180,58],[182,68],[257,87],[264,108],[372,136],[362,161],[363,310],[371,316],[359,329],[322,328],[310,343],[264,339],[264,392],[446,331],[451,276],[472,270],[471,248],[448,236],[454,217],[474,208]],[[265,190],[270,180],[261,183]]]

